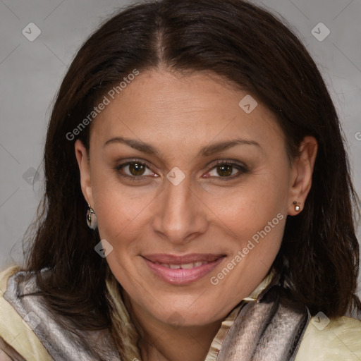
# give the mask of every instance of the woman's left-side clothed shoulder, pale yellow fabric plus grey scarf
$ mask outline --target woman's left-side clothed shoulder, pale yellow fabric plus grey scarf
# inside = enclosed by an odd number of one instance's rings
[[[0,340],[6,348],[28,361],[118,360],[109,329],[78,329],[66,314],[53,312],[39,289],[38,276],[51,277],[51,269],[10,267],[0,273]]]

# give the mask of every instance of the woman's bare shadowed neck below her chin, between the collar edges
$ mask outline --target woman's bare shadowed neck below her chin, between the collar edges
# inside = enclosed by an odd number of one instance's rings
[[[128,296],[125,302],[140,334],[142,361],[204,361],[221,326],[221,320],[203,326],[172,326],[152,318],[130,303]]]

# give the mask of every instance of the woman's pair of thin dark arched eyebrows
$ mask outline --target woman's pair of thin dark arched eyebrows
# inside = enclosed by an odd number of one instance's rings
[[[147,154],[154,154],[158,157],[160,155],[159,151],[156,148],[154,148],[152,145],[142,142],[141,140],[129,139],[125,137],[111,138],[104,143],[104,147],[106,145],[114,144],[114,143],[125,144],[128,145],[129,147],[139,150],[140,152]],[[198,152],[197,157],[200,156],[208,157],[214,153],[222,152],[231,147],[235,147],[236,145],[255,145],[256,147],[259,148],[261,147],[259,143],[255,142],[255,140],[233,139],[233,140],[228,140],[226,142],[216,142],[211,145],[207,145],[206,147],[200,149],[200,152]]]

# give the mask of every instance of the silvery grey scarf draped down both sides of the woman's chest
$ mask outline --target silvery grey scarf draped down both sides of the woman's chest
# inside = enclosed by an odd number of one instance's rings
[[[43,270],[46,271],[46,270]],[[307,307],[293,301],[276,276],[256,300],[243,301],[216,361],[292,361],[310,322]],[[19,271],[8,279],[4,298],[55,361],[121,361],[109,331],[66,331],[59,325],[39,289],[35,274]],[[63,319],[66,322],[66,319]],[[128,361],[128,360],[123,360]]]

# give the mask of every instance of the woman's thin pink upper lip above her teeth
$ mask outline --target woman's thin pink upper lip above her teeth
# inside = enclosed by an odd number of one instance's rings
[[[224,255],[216,255],[211,253],[191,253],[188,255],[166,255],[164,253],[157,253],[153,255],[142,255],[142,257],[148,259],[150,262],[158,262],[164,264],[189,264],[195,262],[213,262]]]

